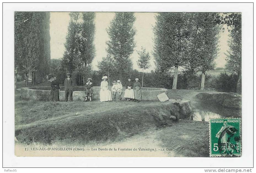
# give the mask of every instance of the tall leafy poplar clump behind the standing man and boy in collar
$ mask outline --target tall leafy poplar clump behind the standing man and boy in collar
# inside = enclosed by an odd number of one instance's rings
[[[68,34],[66,36],[65,52],[62,64],[69,72],[75,69],[83,74],[95,57],[95,13],[71,12]]]

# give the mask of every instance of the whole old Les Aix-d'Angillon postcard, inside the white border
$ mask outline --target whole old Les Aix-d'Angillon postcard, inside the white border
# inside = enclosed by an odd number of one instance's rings
[[[241,20],[16,11],[15,155],[240,157]]]

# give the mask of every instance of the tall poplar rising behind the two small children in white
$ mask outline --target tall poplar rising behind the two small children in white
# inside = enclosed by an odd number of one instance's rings
[[[113,58],[116,74],[126,75],[132,69],[130,55],[135,47],[136,30],[133,27],[135,19],[132,12],[116,12],[107,29],[110,39],[106,42],[106,50],[108,56]]]

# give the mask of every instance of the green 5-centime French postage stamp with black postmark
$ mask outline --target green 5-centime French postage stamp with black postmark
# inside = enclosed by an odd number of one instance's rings
[[[241,119],[210,119],[209,138],[211,157],[241,156]]]

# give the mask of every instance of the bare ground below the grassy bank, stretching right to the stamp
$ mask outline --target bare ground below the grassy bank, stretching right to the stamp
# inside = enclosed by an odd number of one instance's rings
[[[196,128],[195,128],[196,127]],[[55,142],[40,147],[77,147],[84,151],[34,152],[33,156],[86,157],[209,157],[208,122],[180,120],[171,127],[150,128],[146,132],[119,142]],[[38,147],[38,146],[37,146]],[[115,150],[115,149],[116,150]],[[112,150],[110,150],[112,149]],[[25,154],[25,153],[24,153]]]

